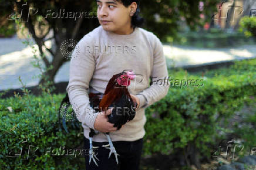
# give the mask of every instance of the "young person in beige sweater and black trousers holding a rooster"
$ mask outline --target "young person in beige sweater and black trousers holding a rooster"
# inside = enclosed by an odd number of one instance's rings
[[[140,28],[139,0],[96,0],[100,26],[87,33],[76,46],[70,61],[67,91],[84,130],[85,150],[89,149],[89,128],[100,131],[93,136],[97,165],[85,154],[86,169],[139,169],[146,123],[145,108],[166,96],[169,83],[166,59],[159,38]],[[89,93],[104,93],[110,78],[123,70],[143,75],[128,90],[138,104],[132,121],[117,131],[107,121],[106,113],[93,113]],[[149,86],[150,79],[154,80]],[[165,81],[165,82],[164,82]],[[134,84],[134,86],[133,86]],[[90,108],[87,110],[87,108]],[[119,164],[109,149],[106,135],[110,132]]]

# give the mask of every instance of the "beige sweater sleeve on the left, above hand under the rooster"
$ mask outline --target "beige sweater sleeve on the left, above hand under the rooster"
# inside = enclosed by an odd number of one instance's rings
[[[90,50],[92,45],[93,39],[89,35],[85,35],[76,45],[70,60],[66,91],[78,120],[94,129],[97,113],[90,107],[89,101],[89,83],[95,70],[95,57]]]

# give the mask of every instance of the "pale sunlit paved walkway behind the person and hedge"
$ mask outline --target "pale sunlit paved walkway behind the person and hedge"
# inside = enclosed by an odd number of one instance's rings
[[[26,86],[35,86],[39,79],[39,69],[32,66],[33,53],[23,40],[14,38],[0,39],[0,90],[21,88],[18,77]],[[50,45],[50,42],[48,42]],[[168,66],[186,66],[211,62],[247,59],[256,56],[256,45],[222,49],[200,49],[196,47],[163,45]],[[43,63],[41,63],[43,64]],[[69,62],[60,67],[55,83],[69,80]]]

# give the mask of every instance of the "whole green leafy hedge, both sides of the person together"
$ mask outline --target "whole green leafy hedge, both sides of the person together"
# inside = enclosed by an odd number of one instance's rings
[[[220,120],[230,118],[256,94],[256,60],[235,62],[228,69],[190,74],[184,70],[169,70],[171,79],[202,79],[202,86],[171,86],[169,93],[146,109],[147,123],[143,156],[154,153],[183,155],[210,159],[214,147],[223,136]],[[174,84],[175,85],[175,84]],[[0,100],[0,169],[47,168],[78,169],[83,165],[75,156],[46,155],[47,148],[74,148],[83,141],[83,130],[68,123],[69,134],[60,129],[58,108],[65,94],[41,97],[16,96]],[[7,107],[12,107],[9,112]],[[27,140],[27,142],[23,142]],[[17,158],[6,155],[27,154],[29,145],[36,152]],[[191,148],[195,150],[192,151]],[[32,150],[35,148],[31,148]],[[193,161],[194,160],[194,161]]]

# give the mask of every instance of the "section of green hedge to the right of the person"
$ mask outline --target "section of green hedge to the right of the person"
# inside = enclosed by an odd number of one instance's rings
[[[225,133],[225,128],[221,127],[220,120],[232,117],[234,111],[240,110],[256,94],[255,65],[255,59],[235,62],[228,69],[206,72],[204,77],[201,73],[170,70],[169,76],[173,79],[203,78],[203,86],[182,89],[171,86],[163,100],[147,108],[144,155],[181,152],[187,158],[200,155],[200,158],[210,159],[214,148],[224,138],[221,134]]]

